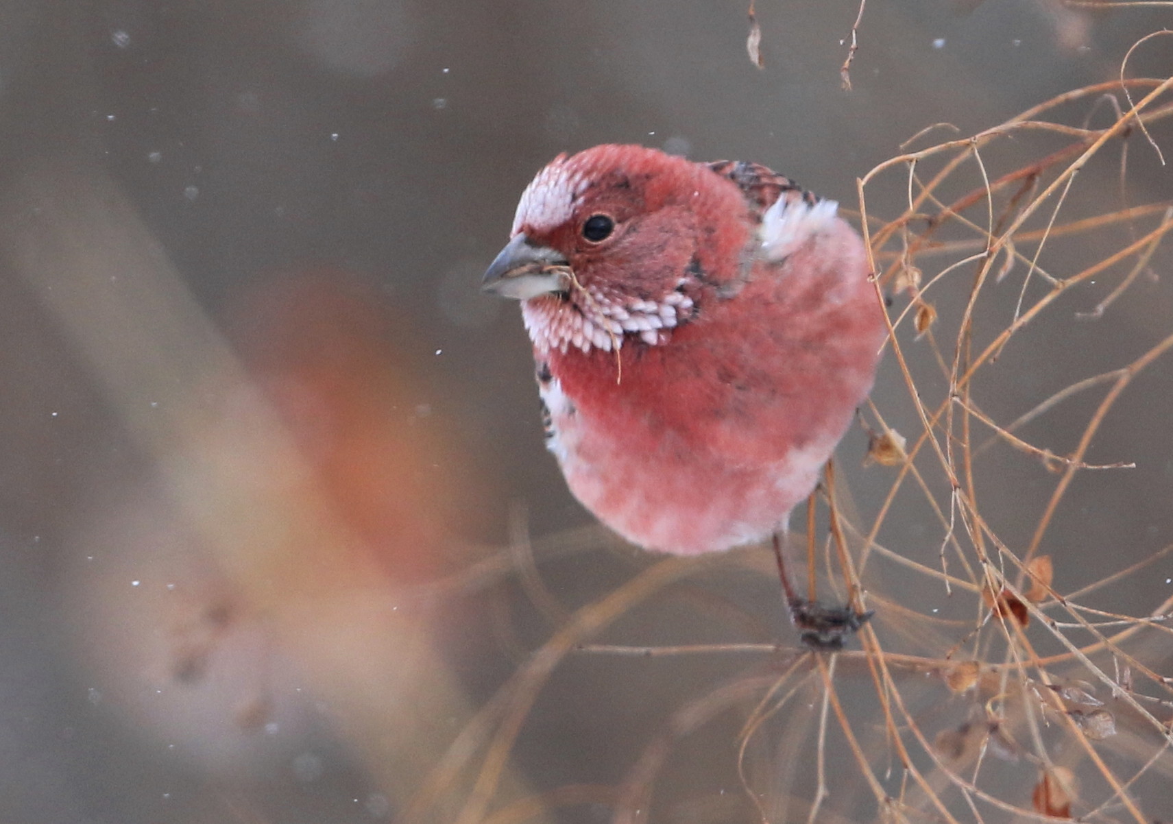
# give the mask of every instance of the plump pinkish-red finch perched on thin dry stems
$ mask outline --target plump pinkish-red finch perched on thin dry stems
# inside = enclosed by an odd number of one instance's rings
[[[522,301],[570,490],[635,544],[696,554],[777,550],[872,388],[869,275],[836,204],[765,166],[599,145],[538,172],[483,287]],[[866,618],[784,586],[813,646]]]

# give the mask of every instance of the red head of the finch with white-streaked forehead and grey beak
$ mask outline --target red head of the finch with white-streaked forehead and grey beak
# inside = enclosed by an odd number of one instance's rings
[[[663,343],[706,287],[738,277],[752,232],[741,192],[708,166],[595,147],[560,155],[526,188],[482,288],[523,301],[540,349]]]

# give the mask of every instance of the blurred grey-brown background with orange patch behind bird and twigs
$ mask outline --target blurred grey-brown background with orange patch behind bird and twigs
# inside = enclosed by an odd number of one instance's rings
[[[925,127],[970,135],[1117,79],[1171,20],[873,2],[845,91],[856,11],[759,0],[759,70],[738,2],[0,5],[0,820],[479,819],[446,789],[465,762],[433,771],[443,754],[567,615],[655,560],[567,492],[517,307],[477,290],[534,172],[643,143],[761,162],[850,210],[856,178]],[[1147,43],[1128,74],[1167,75],[1171,45]],[[1173,197],[1151,147],[1128,147],[1126,202]],[[1089,166],[1067,216],[1118,206],[1119,177],[1119,151]],[[869,210],[899,214],[906,188],[882,179]],[[1103,248],[1045,264],[1071,274]],[[981,384],[985,411],[1012,420],[1169,334],[1168,278],[1072,320],[1116,282],[1016,339]],[[968,280],[949,288],[942,312]],[[1137,379],[1089,455],[1137,469],[1080,475],[1064,499],[1044,547],[1064,558],[1057,588],[1173,540],[1171,372]],[[874,399],[916,434],[891,359]],[[1023,435],[1070,451],[1093,407]],[[841,463],[867,523],[891,475],[861,469],[865,448],[854,431]],[[1003,458],[982,476],[988,513],[1025,542],[1055,476]],[[883,538],[936,565],[943,531],[923,509]],[[792,643],[767,561],[706,573],[609,640]],[[1145,613],[1169,576],[1158,561],[1111,606]],[[494,784],[570,788],[567,806],[501,819],[608,820],[606,788],[671,713],[745,665],[571,656]],[[740,792],[738,729],[692,744],[660,810]],[[753,820],[739,804],[653,819]]]

